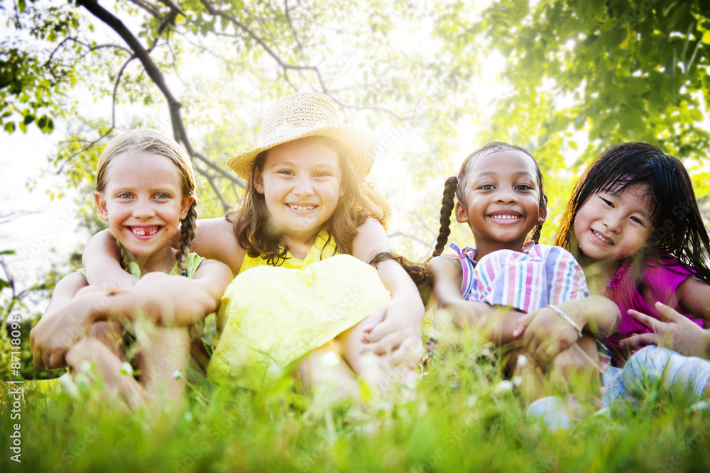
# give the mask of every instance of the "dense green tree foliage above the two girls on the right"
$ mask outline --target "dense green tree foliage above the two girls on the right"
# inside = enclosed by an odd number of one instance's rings
[[[529,6],[501,0],[467,26],[459,26],[467,34],[459,53],[481,45],[498,51],[509,86],[493,101],[496,111],[482,142],[511,140],[534,150],[552,174],[549,194],[558,206],[574,183],[567,167],[578,175],[622,141],[652,143],[690,168],[707,166],[707,2],[551,0]],[[706,180],[694,182],[697,194],[706,196]]]

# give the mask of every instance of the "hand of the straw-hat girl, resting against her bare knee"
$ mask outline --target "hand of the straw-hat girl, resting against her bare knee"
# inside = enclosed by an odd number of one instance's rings
[[[376,355],[390,353],[392,365],[408,362],[415,365],[424,354],[422,345],[422,319],[424,304],[421,299],[393,298],[368,317],[362,343],[365,350]]]

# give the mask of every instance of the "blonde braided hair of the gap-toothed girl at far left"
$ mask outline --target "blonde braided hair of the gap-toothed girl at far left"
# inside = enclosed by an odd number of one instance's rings
[[[182,193],[181,199],[185,197],[192,197],[195,199],[192,201],[190,208],[187,210],[187,216],[180,221],[180,241],[178,243],[178,252],[175,254],[175,259],[178,260],[178,267],[180,268],[181,274],[187,273],[187,265],[185,261],[187,260],[187,255],[190,254],[190,247],[192,247],[192,239],[195,238],[195,227],[197,226],[197,175],[195,174],[195,169],[192,167],[192,162],[187,152],[182,149],[182,147],[167,135],[160,133],[158,130],[153,130],[151,128],[138,128],[136,130],[129,130],[121,135],[118,135],[113,140],[109,141],[106,145],[104,151],[99,157],[99,163],[97,165],[96,171],[96,191],[99,194],[104,193],[107,185],[107,169],[109,167],[109,162],[114,159],[114,157],[120,155],[124,152],[131,152],[138,155],[161,155],[167,157],[171,160],[178,171],[180,172],[181,186],[180,190]],[[115,240],[115,238],[114,238]],[[128,252],[124,245],[121,245],[119,241],[116,240],[116,245],[118,245],[121,251],[121,267],[124,269],[128,265]]]

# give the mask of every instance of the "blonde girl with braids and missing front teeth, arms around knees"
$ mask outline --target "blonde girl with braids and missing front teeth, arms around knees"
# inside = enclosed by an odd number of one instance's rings
[[[229,267],[190,252],[197,223],[190,158],[157,130],[127,131],[99,157],[94,201],[129,285],[89,284],[83,270],[63,278],[30,334],[34,364],[98,375],[133,407],[159,394],[180,399],[184,380],[175,372],[188,365],[204,372],[202,323],[231,281]]]

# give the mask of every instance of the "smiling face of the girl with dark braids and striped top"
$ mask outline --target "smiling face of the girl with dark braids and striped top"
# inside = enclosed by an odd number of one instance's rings
[[[547,208],[540,206],[535,162],[518,150],[471,160],[463,194],[456,219],[469,224],[476,259],[504,248],[521,251],[530,230],[547,216]]]

